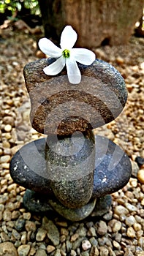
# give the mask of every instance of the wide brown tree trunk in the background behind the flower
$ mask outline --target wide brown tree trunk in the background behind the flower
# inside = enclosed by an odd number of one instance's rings
[[[77,31],[77,46],[121,45],[140,19],[143,0],[39,0],[45,37],[59,42],[64,26]]]

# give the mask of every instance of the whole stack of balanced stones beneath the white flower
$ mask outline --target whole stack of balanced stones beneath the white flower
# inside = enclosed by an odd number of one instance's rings
[[[29,211],[58,212],[78,221],[92,211],[110,208],[110,193],[131,176],[129,157],[115,143],[94,135],[93,129],[113,121],[126,104],[121,74],[105,61],[78,64],[82,80],[72,85],[64,69],[45,75],[55,59],[41,59],[24,68],[31,99],[31,125],[47,135],[28,143],[12,157],[10,173],[26,193]]]

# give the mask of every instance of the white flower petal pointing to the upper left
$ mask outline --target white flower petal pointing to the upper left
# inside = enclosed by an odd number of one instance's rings
[[[62,52],[61,49],[58,48],[56,45],[53,44],[49,39],[47,38],[41,38],[38,42],[40,50],[42,50],[43,53],[49,55],[52,58],[58,58],[61,56]]]

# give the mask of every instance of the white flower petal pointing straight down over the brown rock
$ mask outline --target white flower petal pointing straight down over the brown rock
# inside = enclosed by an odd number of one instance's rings
[[[76,61],[71,58],[67,58],[66,67],[67,67],[67,75],[69,78],[69,83],[74,83],[74,84],[80,83],[81,74]]]

